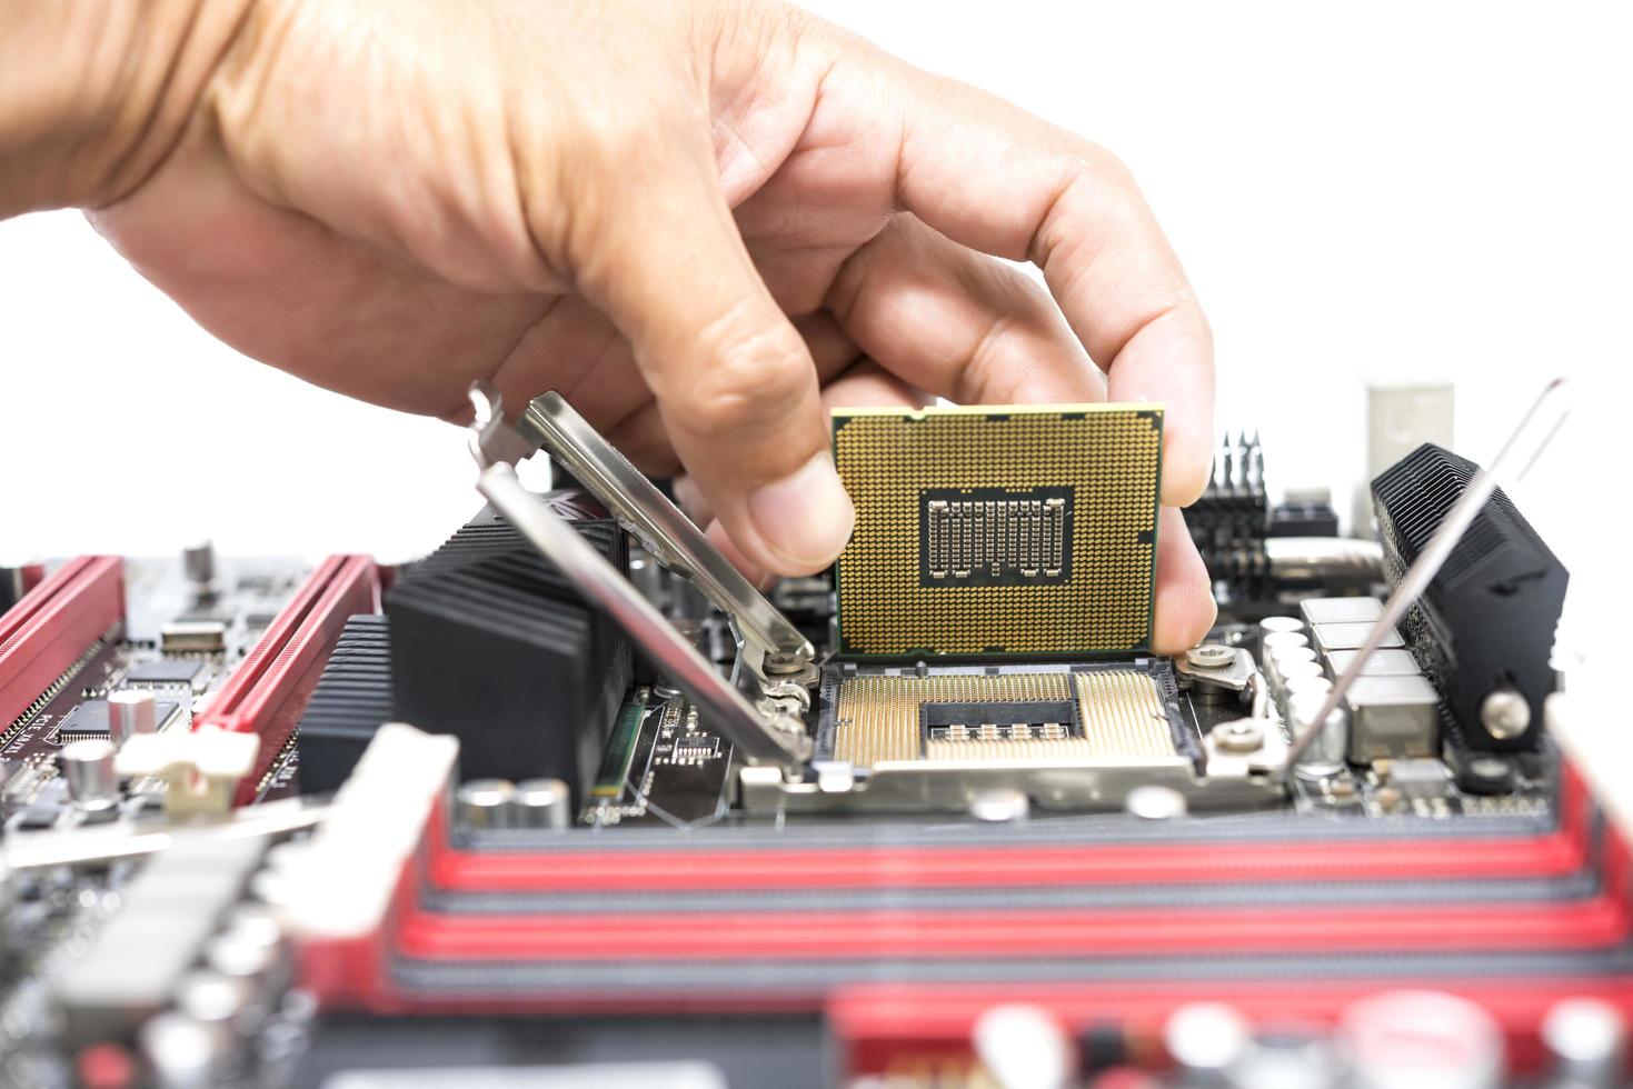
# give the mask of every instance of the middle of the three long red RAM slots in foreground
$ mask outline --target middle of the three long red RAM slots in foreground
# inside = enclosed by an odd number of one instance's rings
[[[1600,949],[1626,939],[1628,906],[1168,908],[1141,911],[790,911],[443,916],[400,922],[407,957],[451,960],[828,960],[1138,957],[1346,950]]]

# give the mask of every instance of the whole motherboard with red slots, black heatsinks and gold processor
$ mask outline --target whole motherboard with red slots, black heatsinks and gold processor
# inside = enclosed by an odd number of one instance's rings
[[[1568,576],[1473,462],[1337,539],[1228,439],[1158,653],[1159,407],[836,413],[856,534],[761,593],[472,397],[412,563],[3,571],[0,1084],[1625,1084]]]

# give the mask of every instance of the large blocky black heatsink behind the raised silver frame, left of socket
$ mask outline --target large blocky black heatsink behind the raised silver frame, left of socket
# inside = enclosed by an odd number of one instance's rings
[[[624,531],[541,498],[619,571]],[[630,682],[617,627],[496,511],[408,567],[385,596],[397,717],[461,741],[470,777],[555,777],[581,795]]]

